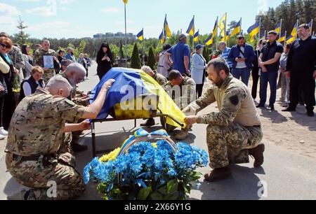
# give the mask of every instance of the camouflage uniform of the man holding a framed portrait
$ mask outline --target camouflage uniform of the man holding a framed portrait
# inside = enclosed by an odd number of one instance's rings
[[[34,52],[34,66],[41,66],[44,68],[44,56],[53,56],[56,57],[55,50],[49,49],[48,51],[45,51],[43,48],[40,48],[39,50]],[[49,69],[46,71],[43,75],[43,80],[45,83],[48,83],[48,80],[50,80],[53,76],[55,76],[55,69]]]

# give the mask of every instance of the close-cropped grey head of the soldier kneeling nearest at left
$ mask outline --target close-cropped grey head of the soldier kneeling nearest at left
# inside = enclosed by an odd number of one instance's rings
[[[54,76],[48,81],[45,89],[48,90],[48,92],[50,92],[52,95],[69,97],[69,94],[72,91],[72,86],[65,78],[58,75]]]

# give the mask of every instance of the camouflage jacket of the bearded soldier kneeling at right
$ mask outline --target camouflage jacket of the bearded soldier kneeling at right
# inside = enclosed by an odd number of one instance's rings
[[[237,122],[244,127],[261,125],[258,112],[248,87],[230,74],[218,88],[210,85],[202,97],[183,110],[184,113],[198,113],[217,101],[219,113],[197,117],[197,123],[228,126]]]

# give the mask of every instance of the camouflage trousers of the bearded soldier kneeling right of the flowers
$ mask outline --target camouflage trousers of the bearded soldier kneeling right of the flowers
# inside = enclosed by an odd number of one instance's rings
[[[228,127],[209,125],[206,132],[212,169],[249,163],[249,149],[256,148],[263,138],[261,127],[243,127],[237,123]]]

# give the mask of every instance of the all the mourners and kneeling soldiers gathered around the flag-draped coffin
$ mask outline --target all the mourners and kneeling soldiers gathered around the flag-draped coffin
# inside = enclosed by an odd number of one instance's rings
[[[276,41],[276,31],[268,33],[268,41],[259,41],[256,50],[239,35],[237,45],[232,48],[221,42],[221,55],[206,64],[202,56],[204,45],[197,45],[192,55],[186,44],[187,37],[180,34],[178,44],[173,47],[164,45],[157,72],[143,66],[145,73],[171,92],[169,95],[187,115],[186,126],[176,136],[178,140],[187,138],[194,124],[208,125],[206,143],[213,171],[204,176],[206,181],[229,178],[232,175],[230,164],[249,163],[249,156],[254,157],[254,167],[262,166],[265,145],[261,143],[263,130],[257,108],[265,107],[269,83],[269,107],[274,110],[278,76],[281,99],[287,101],[289,98],[285,110],[296,110],[301,99],[308,116],[314,115],[316,38],[310,36],[308,24],[298,27],[298,35],[300,38],[287,45],[285,50]],[[76,90],[76,85],[88,73],[88,59],[84,54],[76,61],[72,48],[68,48],[67,55],[58,51],[57,56],[47,40],[34,52],[34,57],[27,45],[22,47],[24,54],[14,47],[8,34],[1,33],[0,131],[3,136],[8,135],[8,171],[18,183],[31,189],[22,190],[10,199],[52,199],[47,194],[50,180],[57,185],[53,199],[79,197],[85,187],[82,176],[74,167],[72,151],[86,148],[72,142],[78,139],[81,131],[90,129],[86,119],[98,116],[115,80],[107,80],[90,104],[88,92]],[[110,47],[103,43],[97,56],[100,79],[110,71],[112,61]],[[251,71],[256,82],[253,87],[257,87],[260,78],[261,101],[258,106],[254,102],[257,89],[253,88],[251,93],[248,87]],[[13,94],[15,76],[21,81],[20,104]],[[207,88],[203,87],[206,79],[212,83]],[[180,96],[173,94],[174,90],[169,91],[173,87],[180,89]],[[197,116],[200,110],[215,102],[219,112]],[[153,118],[143,125],[154,125]],[[173,131],[176,127],[166,128]]]

